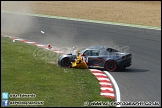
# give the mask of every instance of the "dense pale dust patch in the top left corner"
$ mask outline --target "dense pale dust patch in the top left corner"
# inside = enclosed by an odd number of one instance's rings
[[[24,5],[25,4],[25,5]],[[17,7],[17,5],[19,5]],[[30,13],[29,2],[22,1],[2,1],[2,8],[9,10],[9,8],[14,8],[15,12]],[[7,33],[10,35],[19,35],[25,32],[28,32],[29,28],[32,26],[33,21],[30,17],[25,15],[13,15],[5,14],[1,12],[1,32]]]

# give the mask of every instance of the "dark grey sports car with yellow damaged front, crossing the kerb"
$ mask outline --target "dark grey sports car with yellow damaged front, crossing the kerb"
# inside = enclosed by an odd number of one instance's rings
[[[86,58],[86,62],[81,59]],[[132,64],[132,54],[120,52],[107,46],[91,46],[78,52],[78,56],[72,53],[64,54],[58,58],[58,66],[73,68],[102,68],[106,71],[113,72],[123,70]],[[74,65],[75,64],[75,65]],[[78,64],[78,65],[77,65]]]

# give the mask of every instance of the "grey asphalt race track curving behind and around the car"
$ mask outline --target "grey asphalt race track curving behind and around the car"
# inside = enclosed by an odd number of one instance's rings
[[[121,101],[161,104],[161,30],[1,13],[1,32],[56,47],[106,45],[131,52],[132,66],[111,73]]]

